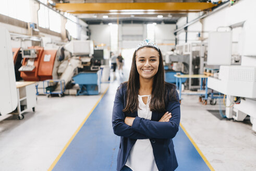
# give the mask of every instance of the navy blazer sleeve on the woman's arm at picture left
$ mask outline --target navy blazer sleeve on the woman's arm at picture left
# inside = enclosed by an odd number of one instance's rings
[[[125,124],[124,98],[121,95],[123,88],[120,88],[116,92],[113,113],[112,113],[112,126],[115,135],[133,138],[133,139],[149,139],[149,136],[145,136],[135,130],[132,130],[130,126]]]

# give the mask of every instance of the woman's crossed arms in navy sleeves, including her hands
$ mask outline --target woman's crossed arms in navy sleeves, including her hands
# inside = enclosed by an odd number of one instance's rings
[[[166,107],[167,112],[159,121],[140,117],[126,117],[122,111],[123,108],[123,97],[119,90],[116,93],[112,115],[113,130],[117,136],[133,139],[165,139],[174,138],[178,131],[180,121],[179,102],[169,102]]]

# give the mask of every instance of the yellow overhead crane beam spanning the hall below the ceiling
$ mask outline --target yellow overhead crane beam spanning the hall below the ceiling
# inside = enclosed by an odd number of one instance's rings
[[[121,13],[128,10],[156,13],[188,13],[212,8],[212,3],[62,3],[55,8],[73,14]]]

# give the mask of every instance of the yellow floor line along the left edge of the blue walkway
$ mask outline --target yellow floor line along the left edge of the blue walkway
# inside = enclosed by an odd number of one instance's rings
[[[107,89],[105,90],[105,92],[101,95],[100,99],[96,102],[96,104],[93,106],[93,108],[91,109],[91,111],[89,112],[89,114],[86,116],[86,118],[83,120],[83,122],[80,124],[80,126],[77,128],[76,132],[73,134],[73,136],[69,139],[69,141],[67,142],[67,144],[64,146],[63,150],[59,153],[59,155],[57,156],[57,158],[55,159],[55,161],[53,162],[53,164],[50,166],[50,168],[48,169],[48,171],[51,171],[54,166],[56,165],[56,163],[59,161],[59,158],[62,157],[63,153],[66,151],[66,149],[68,148],[69,144],[71,143],[71,141],[75,138],[75,136],[77,135],[78,131],[82,128],[83,124],[86,123],[86,120],[89,118],[89,116],[91,115],[91,113],[93,112],[94,108],[97,106],[97,104],[101,101],[102,97],[105,95],[105,93],[107,92],[109,88],[109,85],[107,87]]]

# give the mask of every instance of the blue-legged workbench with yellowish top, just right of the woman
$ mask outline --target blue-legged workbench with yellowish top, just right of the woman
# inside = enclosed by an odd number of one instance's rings
[[[179,90],[179,100],[180,101],[181,101],[181,94],[204,95],[203,102],[207,103],[207,99],[208,99],[208,87],[207,87],[208,76],[205,76],[205,75],[174,75],[174,77],[176,77],[176,86],[177,86],[177,90]],[[181,93],[181,79],[184,79],[184,78],[201,78],[201,84],[200,84],[201,92],[199,92],[199,93],[185,93],[185,92]],[[205,81],[205,87],[203,89],[203,82],[204,81]],[[202,92],[202,90],[205,90],[205,91]]]

